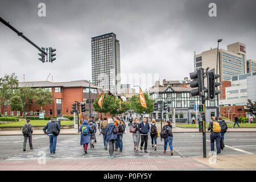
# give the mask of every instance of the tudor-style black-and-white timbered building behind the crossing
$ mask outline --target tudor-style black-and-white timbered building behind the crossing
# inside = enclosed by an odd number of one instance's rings
[[[172,121],[172,109],[175,108],[175,121],[176,123],[191,123],[191,118],[196,118],[196,111],[194,106],[200,104],[200,97],[191,96],[191,87],[184,88],[183,86],[168,86],[155,85],[150,89],[151,99],[155,101],[167,101],[170,107],[170,113],[168,110],[163,111],[163,118],[168,118]],[[217,97],[215,100],[205,101],[205,119],[207,123],[210,121],[210,117],[216,116]],[[160,121],[160,111],[154,111],[151,113],[151,118],[155,118],[156,121]]]

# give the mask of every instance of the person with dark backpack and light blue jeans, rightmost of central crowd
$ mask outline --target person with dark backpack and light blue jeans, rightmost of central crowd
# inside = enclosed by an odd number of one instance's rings
[[[163,126],[162,130],[167,131],[166,138],[164,138],[164,152],[163,153],[166,154],[167,143],[169,143],[171,155],[174,155],[174,147],[172,146],[172,140],[174,139],[174,135],[172,135],[172,123],[170,120],[166,121],[166,125]]]

